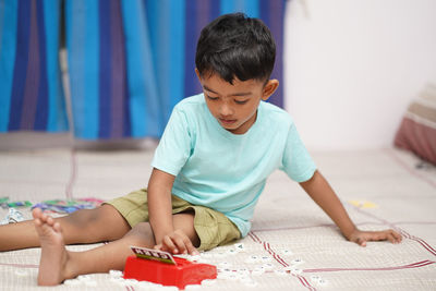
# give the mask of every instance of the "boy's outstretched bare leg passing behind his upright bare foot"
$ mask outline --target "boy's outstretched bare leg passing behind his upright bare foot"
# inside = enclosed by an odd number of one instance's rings
[[[64,231],[65,244],[118,240],[131,229],[120,213],[107,204],[95,209],[77,210],[55,218],[55,221]],[[39,246],[39,237],[33,220],[0,226],[0,252],[36,246]]]

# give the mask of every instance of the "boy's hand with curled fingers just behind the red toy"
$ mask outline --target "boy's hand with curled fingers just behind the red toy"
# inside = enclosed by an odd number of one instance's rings
[[[194,247],[191,240],[182,230],[174,230],[164,235],[160,243],[155,245],[155,250],[169,252],[172,254],[190,254],[198,255],[198,251]]]

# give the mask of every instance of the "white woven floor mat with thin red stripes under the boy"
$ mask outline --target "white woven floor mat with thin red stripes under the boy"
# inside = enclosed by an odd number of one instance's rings
[[[0,197],[33,203],[66,196],[109,199],[147,184],[152,154],[0,153]],[[298,184],[275,172],[256,208],[253,230],[241,241],[245,252],[230,254],[234,245],[229,245],[206,253],[204,259],[221,269],[220,278],[197,288],[436,290],[436,169],[416,169],[419,159],[395,149],[313,153],[313,157],[360,228],[393,227],[404,235],[403,242],[366,247],[347,242]],[[361,202],[360,207],[351,201]],[[5,214],[0,209],[1,217]],[[29,217],[28,211],[25,215]],[[0,253],[0,289],[46,289],[36,287],[38,260],[38,248]],[[283,271],[289,269],[292,272]],[[85,279],[47,290],[157,288],[120,283],[108,274]]]

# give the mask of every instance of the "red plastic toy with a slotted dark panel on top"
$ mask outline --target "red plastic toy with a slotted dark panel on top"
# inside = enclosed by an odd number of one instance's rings
[[[135,256],[128,257],[124,279],[150,281],[184,289],[187,284],[199,284],[205,279],[217,278],[217,267],[198,264],[170,253],[131,246]]]

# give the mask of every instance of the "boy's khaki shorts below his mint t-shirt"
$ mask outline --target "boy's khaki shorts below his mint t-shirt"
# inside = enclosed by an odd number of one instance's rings
[[[147,190],[132,192],[107,202],[124,217],[133,228],[138,222],[148,222]],[[214,209],[192,205],[172,195],[172,214],[194,210],[194,228],[199,238],[199,251],[207,251],[241,238],[238,227],[223,214]]]

